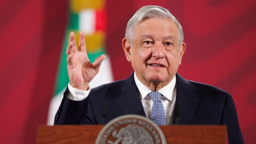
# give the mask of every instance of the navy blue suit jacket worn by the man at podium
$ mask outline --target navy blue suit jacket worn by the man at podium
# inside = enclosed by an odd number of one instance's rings
[[[117,116],[145,116],[134,73],[125,80],[93,88],[82,101],[67,98],[67,90],[54,119],[54,124],[102,124],[103,105],[108,103],[105,124]],[[176,104],[181,104],[179,124],[227,125],[230,144],[244,143],[231,95],[211,85],[189,81],[178,73]],[[174,115],[176,113],[174,110]],[[173,119],[175,122],[175,117]]]

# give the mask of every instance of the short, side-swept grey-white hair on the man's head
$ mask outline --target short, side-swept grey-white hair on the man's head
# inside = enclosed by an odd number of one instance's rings
[[[173,20],[178,28],[180,47],[181,43],[184,40],[183,30],[180,25],[180,22],[167,9],[156,5],[147,5],[141,7],[128,21],[125,30],[125,37],[130,41],[131,47],[133,47],[134,27],[146,18],[160,18]]]

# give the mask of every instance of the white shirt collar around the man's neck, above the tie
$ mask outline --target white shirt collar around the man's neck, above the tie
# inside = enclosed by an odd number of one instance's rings
[[[134,80],[135,80],[135,84],[137,85],[140,91],[141,100],[143,100],[148,95],[148,93],[152,91],[147,86],[145,86],[140,82],[140,80],[136,76],[135,71],[134,71]],[[176,75],[173,77],[172,81],[169,84],[167,84],[165,87],[158,90],[158,92],[160,92],[164,97],[166,97],[168,100],[173,102],[176,95],[176,93],[173,94],[175,85],[176,85]]]

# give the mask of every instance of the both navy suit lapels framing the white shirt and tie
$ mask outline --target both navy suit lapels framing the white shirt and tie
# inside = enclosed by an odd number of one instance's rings
[[[177,91],[175,107],[178,103],[181,104],[179,124],[190,124],[200,97],[195,94],[196,87],[193,84],[181,77],[178,73],[176,77]],[[132,73],[132,75],[124,81],[122,86],[120,86],[117,94],[121,96],[115,100],[117,106],[125,115],[137,114],[146,117],[139,93],[138,87],[134,81],[134,73]],[[175,108],[173,123],[176,120],[176,110]]]

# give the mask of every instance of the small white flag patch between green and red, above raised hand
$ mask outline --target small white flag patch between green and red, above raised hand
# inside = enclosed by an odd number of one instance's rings
[[[95,32],[96,14],[93,9],[85,9],[79,12],[79,30],[84,31],[86,35]]]

